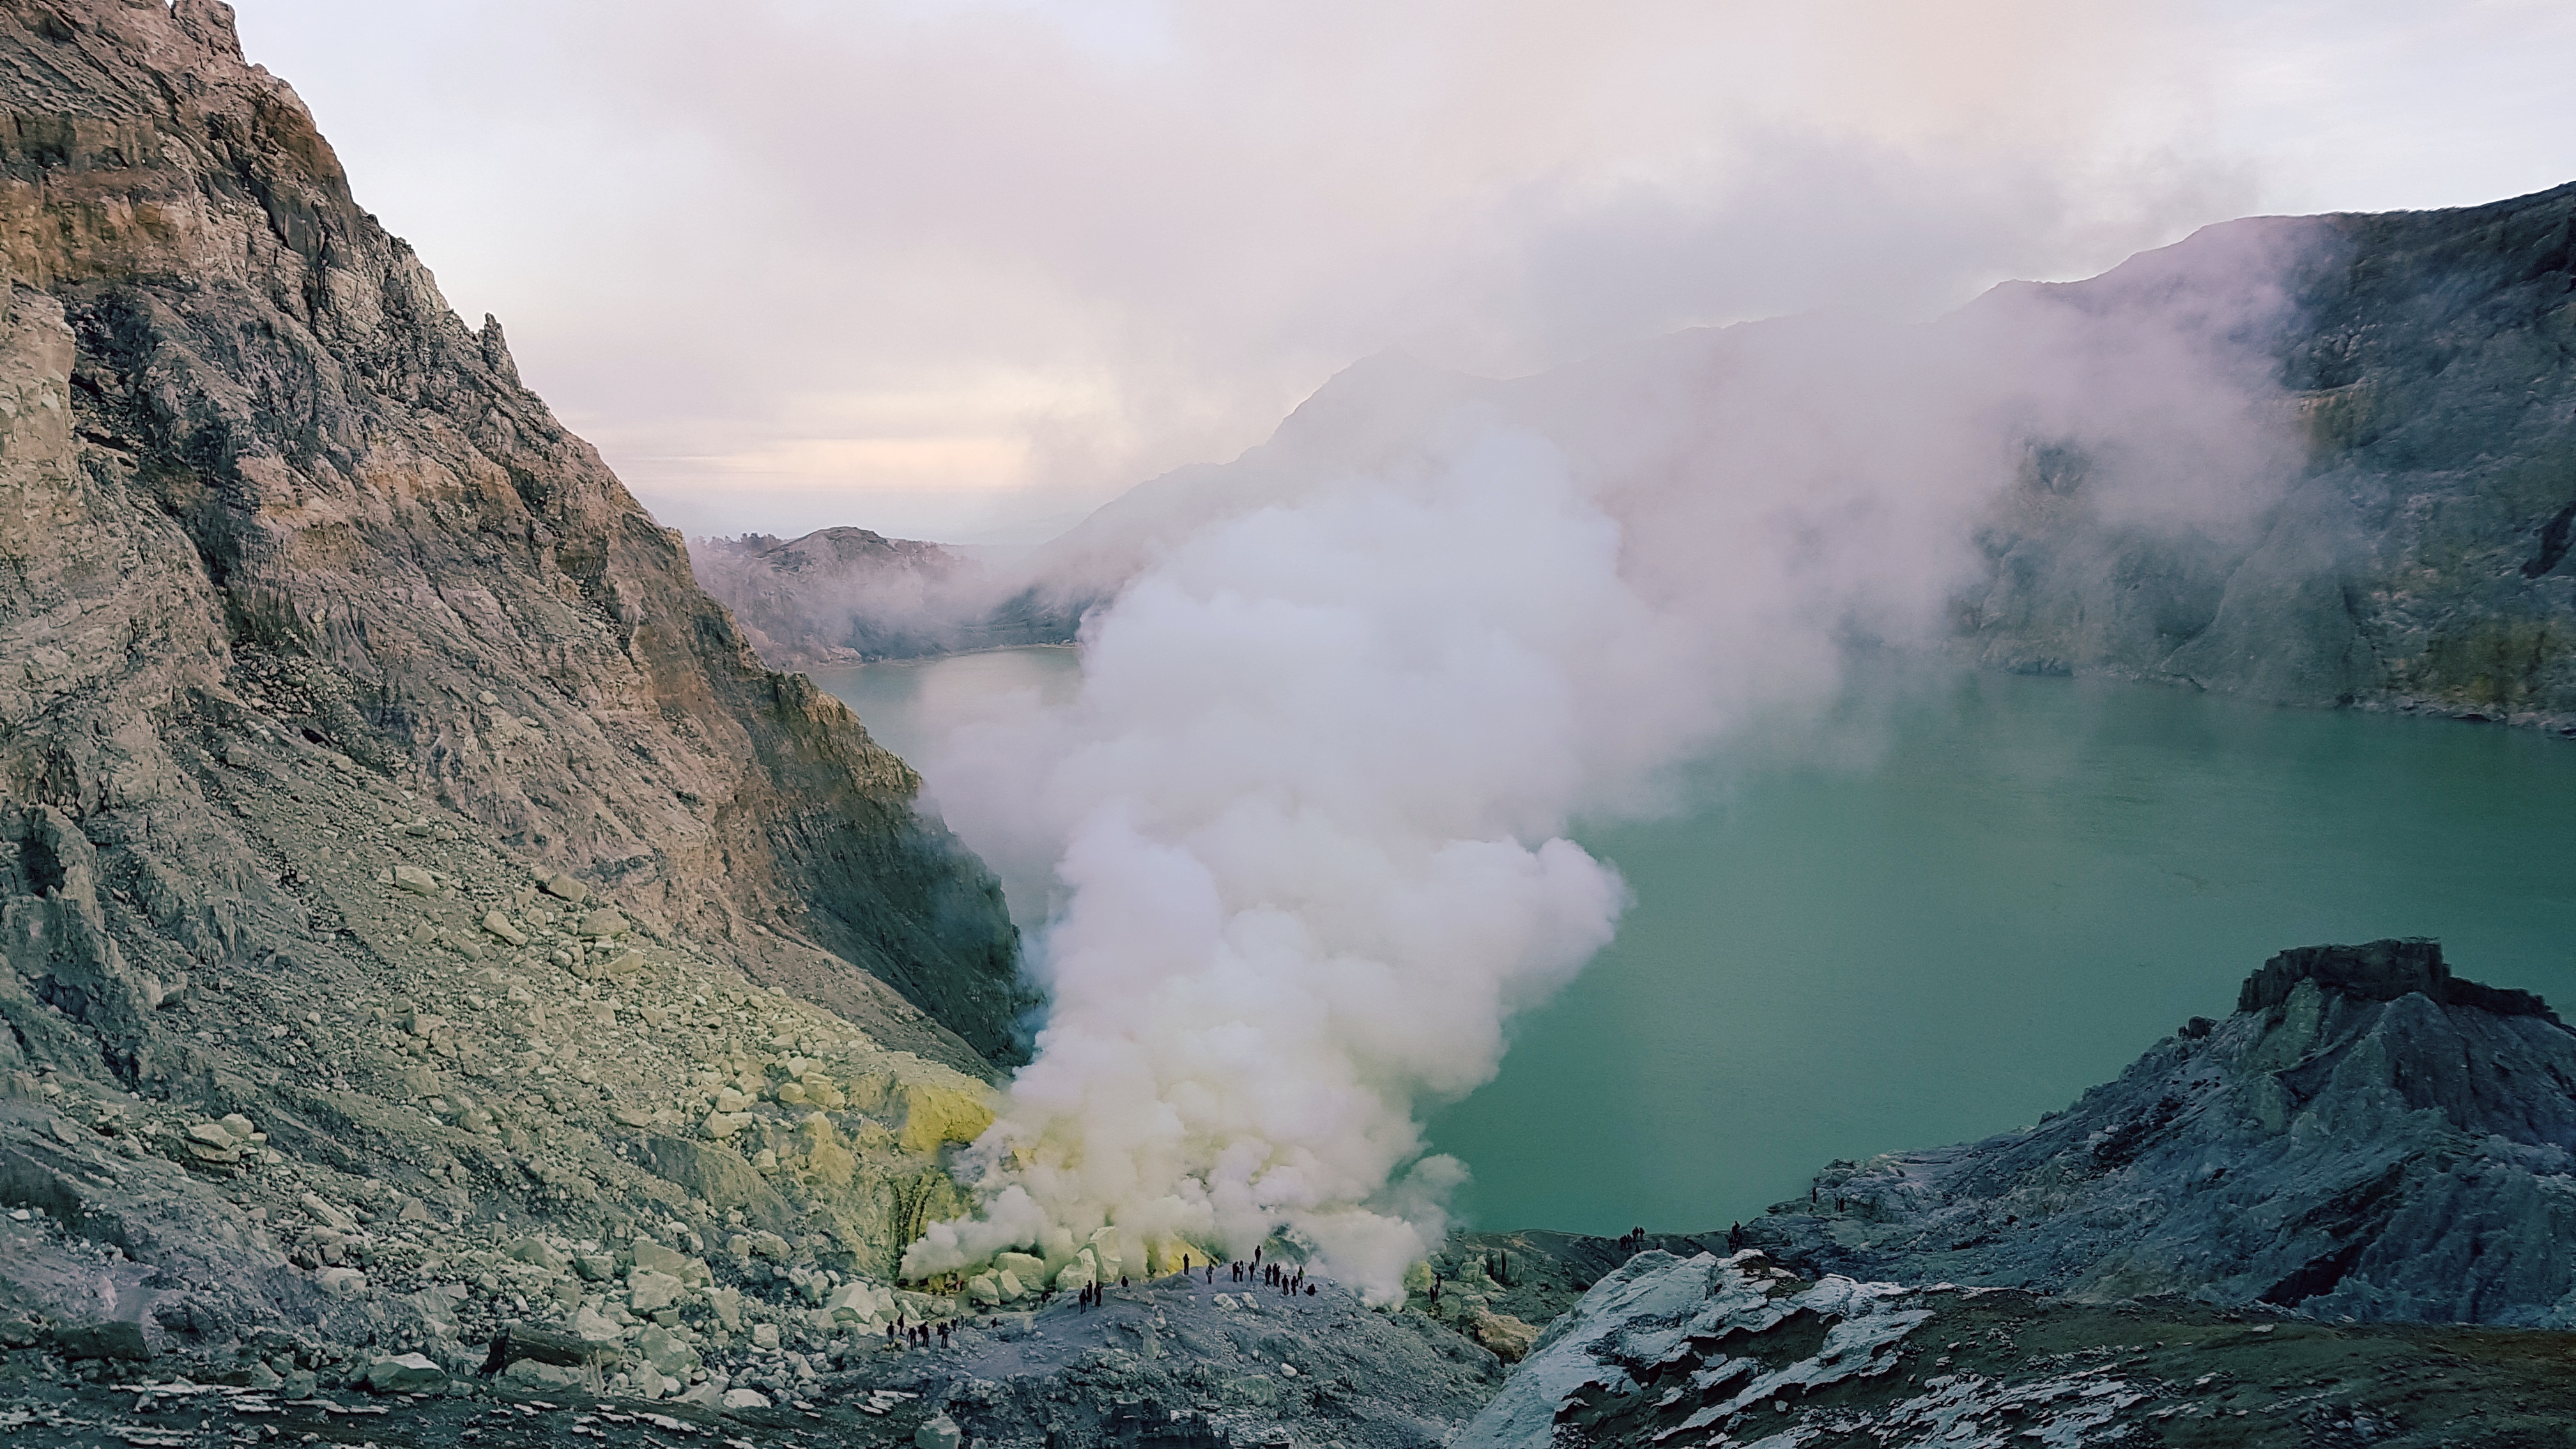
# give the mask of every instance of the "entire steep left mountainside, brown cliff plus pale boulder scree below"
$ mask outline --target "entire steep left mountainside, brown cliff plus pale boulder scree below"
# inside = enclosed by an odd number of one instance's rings
[[[0,0],[0,1348],[657,1397],[953,1312],[992,877],[224,5]]]

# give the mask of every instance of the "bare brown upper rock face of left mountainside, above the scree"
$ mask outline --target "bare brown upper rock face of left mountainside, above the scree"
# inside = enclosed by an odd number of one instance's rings
[[[95,846],[116,951],[46,949],[95,957],[64,972],[103,1021],[309,938],[219,784],[289,740],[757,980],[858,1011],[876,975],[1012,1055],[992,877],[842,704],[760,668],[224,5],[0,5],[0,833],[28,892],[59,822]]]

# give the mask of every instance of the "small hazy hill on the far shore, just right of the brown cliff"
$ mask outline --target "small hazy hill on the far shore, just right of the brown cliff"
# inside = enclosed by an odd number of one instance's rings
[[[760,657],[781,670],[1074,637],[1074,614],[1005,601],[1012,585],[979,559],[868,529],[819,529],[786,541],[698,539],[690,562]]]

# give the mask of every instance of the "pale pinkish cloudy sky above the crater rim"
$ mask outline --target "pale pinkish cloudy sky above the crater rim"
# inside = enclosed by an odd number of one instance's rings
[[[2576,5],[240,0],[667,521],[963,539],[1347,361],[1927,315],[2576,180]]]

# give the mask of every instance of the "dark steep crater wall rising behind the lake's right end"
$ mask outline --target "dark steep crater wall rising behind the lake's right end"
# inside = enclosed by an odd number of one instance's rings
[[[1960,601],[1971,652],[2576,732],[2576,186],[2290,227],[2303,255],[2254,351],[2306,467],[2221,539],[2115,523],[2087,459],[2038,454]],[[2169,253],[2233,266],[2228,227]],[[2123,271],[2053,291],[2081,304]]]

